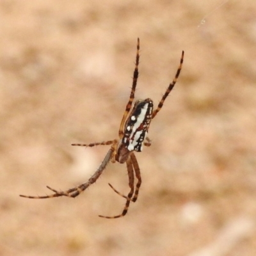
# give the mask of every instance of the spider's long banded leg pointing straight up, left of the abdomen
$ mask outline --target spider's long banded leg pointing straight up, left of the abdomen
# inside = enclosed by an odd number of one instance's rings
[[[135,89],[136,89],[136,84],[137,84],[137,80],[138,80],[138,76],[139,76],[139,72],[138,72],[138,66],[139,66],[139,60],[140,60],[140,38],[138,38],[137,41],[137,52],[136,52],[136,61],[135,61],[135,68],[134,68],[134,72],[133,72],[133,79],[132,79],[132,90],[131,90],[131,94],[130,94],[130,99],[126,105],[125,111],[124,111],[124,116],[122,118],[121,124],[120,124],[120,128],[119,128],[119,138],[122,139],[124,136],[124,124],[125,124],[125,119],[132,107],[132,102],[134,100],[134,94],[135,94]]]

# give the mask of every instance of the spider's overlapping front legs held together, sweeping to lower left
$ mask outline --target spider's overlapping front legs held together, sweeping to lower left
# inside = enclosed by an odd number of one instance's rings
[[[105,170],[107,164],[111,160],[111,157],[113,157],[113,148],[112,147],[108,150],[108,153],[104,157],[104,160],[100,164],[98,170],[92,175],[92,177],[90,177],[90,179],[87,182],[85,182],[75,188],[70,188],[70,189],[67,189],[66,191],[57,191],[56,189],[53,189],[53,188],[50,188],[49,186],[47,186],[47,188],[50,189],[51,191],[53,191],[54,194],[47,195],[47,196],[25,196],[25,195],[20,195],[20,196],[25,197],[25,198],[35,198],[35,199],[53,198],[53,197],[58,197],[58,196],[76,197],[76,196],[80,195],[86,188],[88,188],[90,185],[92,185],[94,182],[96,182],[97,179],[99,179],[101,173]]]

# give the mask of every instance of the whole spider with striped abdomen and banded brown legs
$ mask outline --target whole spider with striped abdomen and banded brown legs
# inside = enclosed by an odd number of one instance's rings
[[[184,51],[182,51],[180,64],[179,64],[179,68],[177,69],[176,75],[172,83],[169,84],[166,92],[164,93],[156,109],[153,109],[153,101],[151,99],[136,100],[132,108],[132,102],[134,100],[134,94],[135,94],[136,84],[137,84],[138,75],[139,75],[138,65],[140,60],[140,38],[138,38],[131,94],[130,94],[130,99],[126,105],[124,116],[122,118],[122,121],[119,127],[119,131],[118,131],[119,138],[115,140],[108,140],[108,141],[102,141],[102,142],[96,142],[96,143],[72,144],[72,146],[82,146],[82,147],[94,147],[97,145],[111,145],[111,148],[108,150],[108,153],[104,157],[99,168],[92,175],[92,177],[88,179],[87,182],[84,182],[83,184],[76,186],[74,188],[70,188],[65,191],[57,191],[56,189],[53,189],[47,186],[47,188],[53,192],[52,195],[46,195],[46,196],[20,195],[20,196],[25,198],[53,198],[58,196],[68,196],[68,197],[74,198],[80,195],[85,189],[87,189],[90,185],[95,183],[97,179],[99,179],[100,175],[106,169],[106,166],[110,161],[112,163],[115,163],[117,161],[118,163],[121,163],[121,164],[126,163],[130,191],[128,195],[123,195],[122,193],[118,192],[115,188],[113,188],[111,184],[109,184],[109,186],[118,195],[125,198],[126,200],[125,207],[121,214],[118,214],[115,216],[99,215],[99,217],[114,219],[114,218],[120,218],[125,216],[125,214],[127,214],[127,211],[129,209],[130,203],[136,202],[139,195],[140,186],[141,186],[140,166],[138,164],[138,161],[136,159],[134,152],[141,152],[143,150],[143,145],[145,145],[146,147],[150,147],[151,140],[147,137],[148,127],[150,125],[151,120],[156,117],[157,113],[163,107],[164,100],[166,99],[166,97],[168,97],[169,93],[172,91],[173,86],[175,85],[179,77],[180,70],[182,68],[183,58],[184,58]],[[134,183],[135,183],[134,174],[137,179],[135,188],[134,188]]]

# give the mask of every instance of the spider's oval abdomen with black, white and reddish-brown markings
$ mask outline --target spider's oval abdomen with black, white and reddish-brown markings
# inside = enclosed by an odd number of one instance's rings
[[[122,143],[129,151],[141,152],[143,141],[147,137],[148,127],[152,120],[153,101],[151,99],[137,100],[131,114],[125,122]]]

